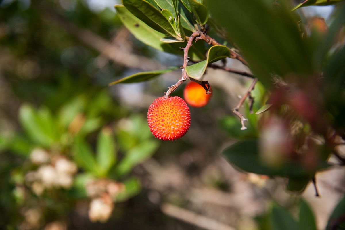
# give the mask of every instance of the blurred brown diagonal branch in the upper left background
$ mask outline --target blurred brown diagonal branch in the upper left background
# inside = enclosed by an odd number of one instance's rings
[[[76,26],[66,18],[60,16],[43,2],[40,3],[40,8],[42,8],[42,12],[48,20],[58,23],[68,33],[75,36],[87,46],[97,50],[108,59],[111,59],[122,66],[142,70],[164,69],[164,66],[157,63],[157,61],[151,60],[150,58],[144,56],[129,53],[126,50],[121,49],[119,46],[116,46],[108,42],[106,39],[98,36],[96,33]]]

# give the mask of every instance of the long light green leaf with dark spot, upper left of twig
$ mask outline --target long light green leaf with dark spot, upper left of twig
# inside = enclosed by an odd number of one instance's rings
[[[116,12],[119,14],[122,23],[124,23],[127,29],[138,40],[157,50],[183,55],[183,51],[179,49],[179,46],[172,46],[169,43],[160,41],[161,38],[166,37],[165,34],[157,32],[156,30],[147,26],[147,24],[140,21],[137,17],[131,14],[124,6],[116,5],[115,9]]]

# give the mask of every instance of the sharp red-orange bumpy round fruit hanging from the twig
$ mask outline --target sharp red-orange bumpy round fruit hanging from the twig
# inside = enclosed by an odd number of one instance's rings
[[[156,138],[179,139],[186,134],[190,126],[187,103],[180,97],[157,98],[149,107],[147,123]]]

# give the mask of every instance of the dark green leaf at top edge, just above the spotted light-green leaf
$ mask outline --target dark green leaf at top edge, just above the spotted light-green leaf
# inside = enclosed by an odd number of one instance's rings
[[[164,34],[176,36],[174,28],[165,16],[145,0],[122,0],[122,4],[149,27]]]

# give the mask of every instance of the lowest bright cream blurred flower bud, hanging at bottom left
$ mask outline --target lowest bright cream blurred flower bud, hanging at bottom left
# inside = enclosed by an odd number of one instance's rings
[[[106,203],[101,198],[93,199],[90,203],[89,218],[92,222],[105,222],[109,219],[113,208],[112,203]]]

